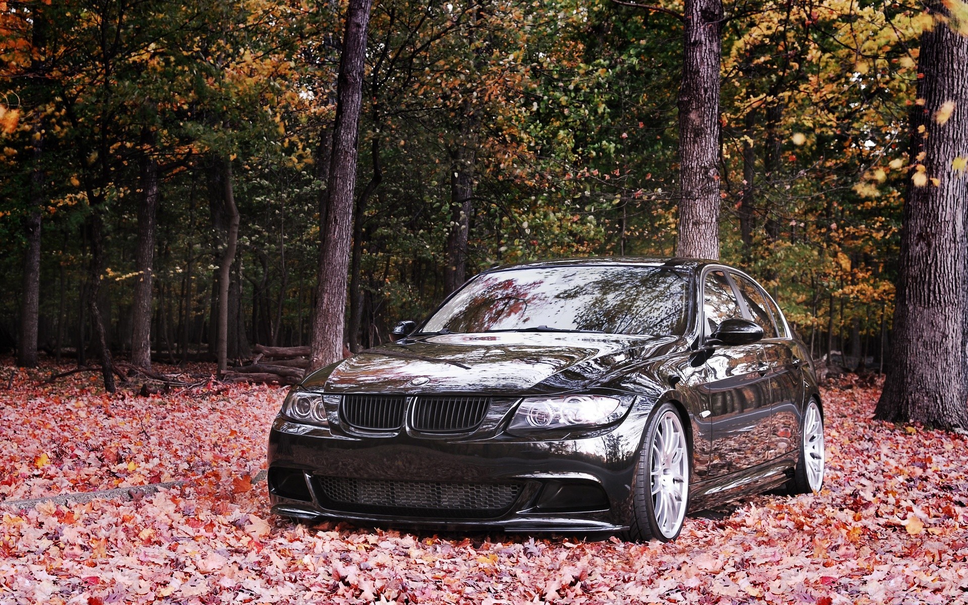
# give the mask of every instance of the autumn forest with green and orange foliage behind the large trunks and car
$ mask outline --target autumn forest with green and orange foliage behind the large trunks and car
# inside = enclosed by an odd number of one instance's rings
[[[0,8],[0,351],[23,349],[31,280],[38,348],[80,366],[99,341],[214,359],[220,284],[228,365],[310,345],[346,6]],[[496,264],[675,255],[682,10],[374,4],[349,349]],[[914,2],[737,0],[720,23],[720,257],[832,371],[880,371],[935,20]]]

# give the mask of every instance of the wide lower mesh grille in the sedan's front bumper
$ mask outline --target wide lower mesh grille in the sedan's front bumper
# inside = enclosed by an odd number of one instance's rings
[[[519,483],[441,483],[316,477],[324,505],[336,510],[435,517],[495,517],[510,508]]]

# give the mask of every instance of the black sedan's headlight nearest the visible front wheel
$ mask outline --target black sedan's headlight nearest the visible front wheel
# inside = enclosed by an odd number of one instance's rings
[[[628,404],[605,395],[528,397],[518,406],[508,433],[533,433],[542,429],[583,429],[618,420]]]

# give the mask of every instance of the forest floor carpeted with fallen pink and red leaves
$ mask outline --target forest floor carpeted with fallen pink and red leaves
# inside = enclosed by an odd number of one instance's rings
[[[968,442],[872,421],[876,384],[825,388],[821,494],[745,500],[690,516],[675,543],[633,544],[295,525],[252,480],[283,389],[107,396],[94,375],[50,373],[0,382],[4,605],[968,603]],[[187,483],[2,504],[172,480]]]

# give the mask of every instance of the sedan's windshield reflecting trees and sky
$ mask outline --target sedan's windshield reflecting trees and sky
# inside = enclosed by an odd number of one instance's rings
[[[421,332],[575,330],[680,335],[688,277],[668,267],[561,266],[485,273]]]

